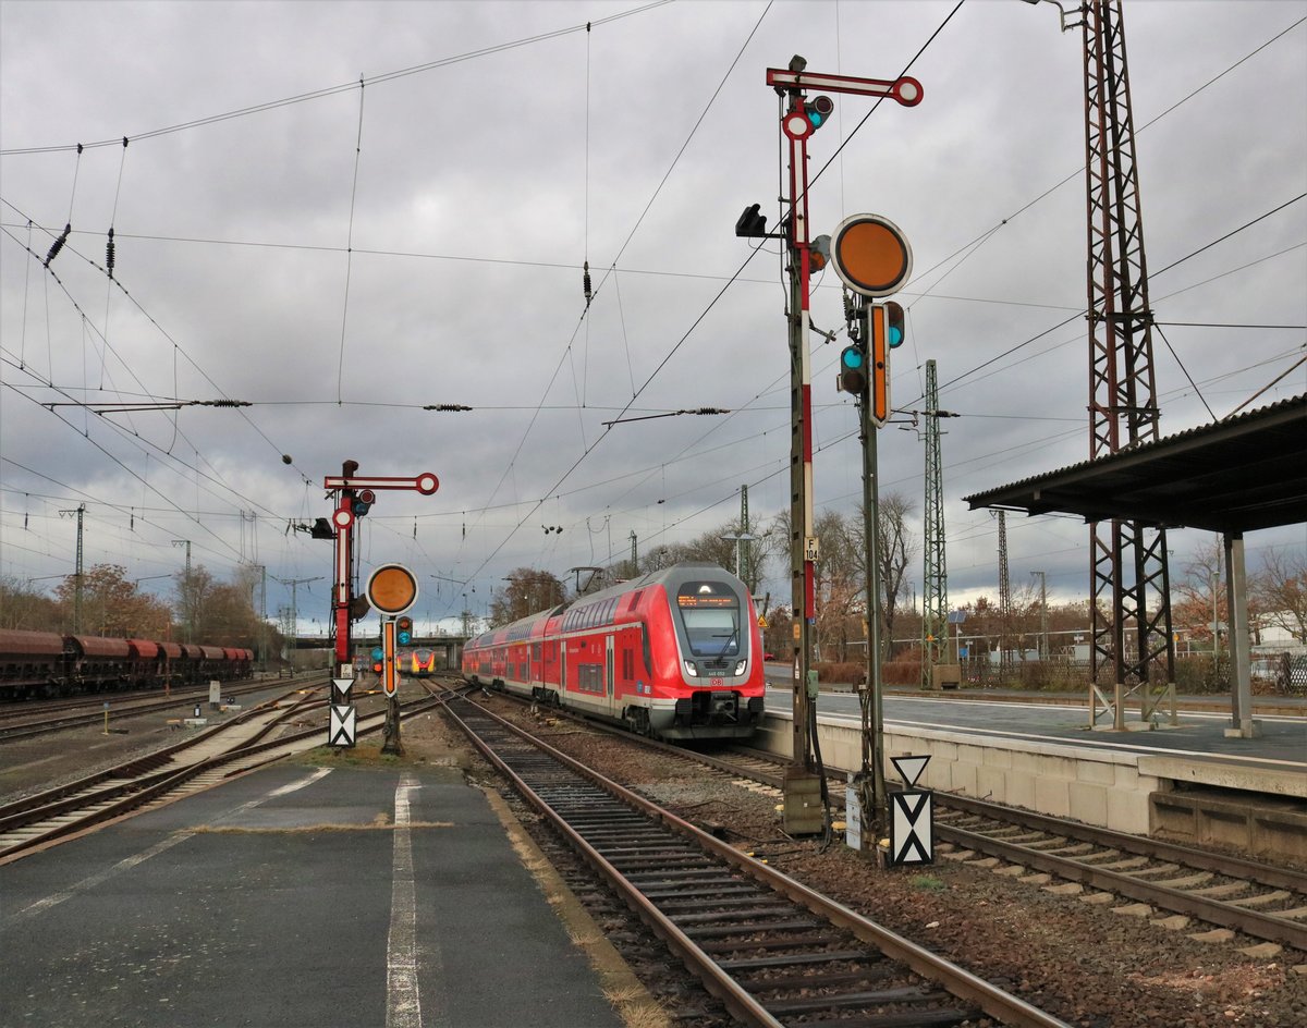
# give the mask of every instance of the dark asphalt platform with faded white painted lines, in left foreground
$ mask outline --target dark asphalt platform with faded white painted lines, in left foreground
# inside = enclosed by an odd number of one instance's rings
[[[0,866],[0,1020],[618,1028],[533,850],[455,768],[284,762]]]

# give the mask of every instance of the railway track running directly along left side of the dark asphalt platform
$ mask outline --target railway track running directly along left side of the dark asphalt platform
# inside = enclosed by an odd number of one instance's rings
[[[446,701],[444,695],[427,695],[405,704],[401,717],[423,713]],[[176,746],[8,803],[0,807],[0,863],[125,814],[140,812],[149,805],[178,799],[272,760],[314,748],[324,741],[320,724],[268,737],[325,705],[325,699],[295,690]],[[359,712],[357,734],[379,731],[384,722],[384,705],[371,713]]]

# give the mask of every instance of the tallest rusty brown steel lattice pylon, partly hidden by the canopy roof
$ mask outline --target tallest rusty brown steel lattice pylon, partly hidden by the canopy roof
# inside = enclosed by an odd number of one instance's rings
[[[1085,182],[1089,213],[1089,435],[1090,460],[1158,438],[1153,374],[1153,312],[1148,302],[1144,221],[1140,213],[1134,121],[1125,64],[1120,0],[1082,8],[1085,42]],[[1124,728],[1124,700],[1142,690],[1146,720],[1165,695],[1175,696],[1166,530],[1138,521],[1090,528],[1093,581],[1091,718],[1111,711]],[[1151,607],[1150,607],[1151,602]],[[1166,657],[1157,698],[1154,661]],[[1111,667],[1115,694],[1099,690]]]

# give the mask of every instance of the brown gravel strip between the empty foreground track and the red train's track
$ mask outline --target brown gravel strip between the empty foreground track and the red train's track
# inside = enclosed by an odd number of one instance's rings
[[[516,721],[520,707],[490,703]],[[1076,896],[940,859],[881,870],[842,843],[818,852],[780,828],[779,797],[569,721],[532,721],[552,745],[864,916],[1082,1028],[1307,1025],[1307,955],[1248,956]],[[938,854],[937,854],[938,856]]]

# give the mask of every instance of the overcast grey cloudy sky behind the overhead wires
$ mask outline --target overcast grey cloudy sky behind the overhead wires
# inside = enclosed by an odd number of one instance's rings
[[[464,593],[484,611],[520,566],[693,538],[737,513],[741,485],[772,516],[782,264],[771,243],[745,264],[733,235],[746,204],[776,217],[766,68],[801,54],[894,78],[925,47],[920,106],[864,123],[870,102],[836,98],[810,214],[818,233],[880,213],[911,240],[891,401],[921,408],[937,362],[962,415],[942,438],[950,597],[996,596],[995,520],[958,498],[1089,456],[1081,37],[1051,4],[954,7],[4,0],[0,573],[69,573],[59,512],[85,503],[88,566],[167,589],[152,576],[190,539],[220,576],[324,576],[299,586],[303,623],[324,624],[331,546],[286,525],[329,513],[322,481],[345,458],[440,478],[431,498],[383,494],[362,532],[365,568],[418,573],[423,620]],[[1125,30],[1171,434],[1304,353],[1307,3],[1131,0]],[[842,328],[838,286],[817,282],[822,329]],[[818,508],[861,491],[842,345],[812,344]],[[1304,387],[1299,366],[1256,402]],[[213,400],[250,406],[193,404]],[[171,401],[187,406],[88,410]],[[732,414],[604,425],[701,406]],[[921,439],[882,430],[880,456],[882,490],[920,511]],[[1174,533],[1174,560],[1208,539]],[[1012,519],[1008,543],[1014,589],[1044,570],[1055,596],[1086,593],[1084,525]],[[1249,562],[1304,545],[1300,525],[1256,533]],[[286,602],[269,581],[269,611]]]

